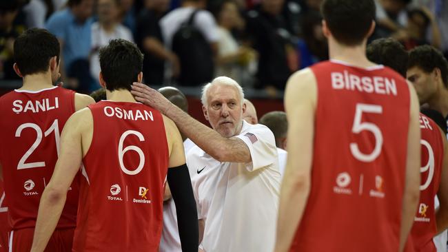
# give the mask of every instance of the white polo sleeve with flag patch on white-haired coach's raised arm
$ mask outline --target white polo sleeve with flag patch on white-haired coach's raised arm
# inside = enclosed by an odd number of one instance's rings
[[[265,125],[250,125],[249,129],[236,137],[243,140],[249,148],[252,162],[246,164],[248,171],[278,163],[274,134]]]

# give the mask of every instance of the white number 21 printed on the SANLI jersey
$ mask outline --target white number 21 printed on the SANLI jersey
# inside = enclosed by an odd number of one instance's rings
[[[31,154],[37,149],[39,144],[42,141],[42,129],[39,127],[39,125],[34,123],[23,123],[20,125],[16,130],[16,137],[20,137],[22,134],[23,129],[26,128],[32,128],[36,131],[37,136],[34,143],[31,145],[30,149],[23,154],[22,158],[19,160],[19,164],[17,165],[17,169],[29,169],[29,168],[37,168],[37,167],[45,167],[45,162],[28,162],[26,163],[26,159],[31,156]],[[59,126],[58,126],[58,119],[54,120],[52,125],[47,129],[46,132],[43,133],[44,136],[48,136],[51,134],[51,132],[54,132],[54,140],[56,140],[56,150],[57,155],[59,156],[59,138],[61,137],[59,134]]]

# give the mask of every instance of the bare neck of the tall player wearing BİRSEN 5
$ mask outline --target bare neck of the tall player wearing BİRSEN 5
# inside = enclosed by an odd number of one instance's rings
[[[365,43],[356,46],[347,46],[337,43],[334,39],[329,39],[329,58],[343,61],[356,67],[365,68],[376,65],[375,63],[371,63],[367,59],[367,56],[365,56],[365,48]]]

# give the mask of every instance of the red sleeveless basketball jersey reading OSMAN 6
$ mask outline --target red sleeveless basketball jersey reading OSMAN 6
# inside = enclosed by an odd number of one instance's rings
[[[73,251],[159,251],[169,160],[162,115],[141,103],[89,108]]]

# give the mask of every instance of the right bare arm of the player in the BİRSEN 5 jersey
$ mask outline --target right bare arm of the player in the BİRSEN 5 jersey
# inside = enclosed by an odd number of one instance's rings
[[[400,251],[405,248],[407,236],[414,224],[418,198],[420,198],[420,124],[418,123],[418,97],[414,87],[408,83],[410,98],[409,131],[407,134],[407,161],[405,191],[400,229]]]

